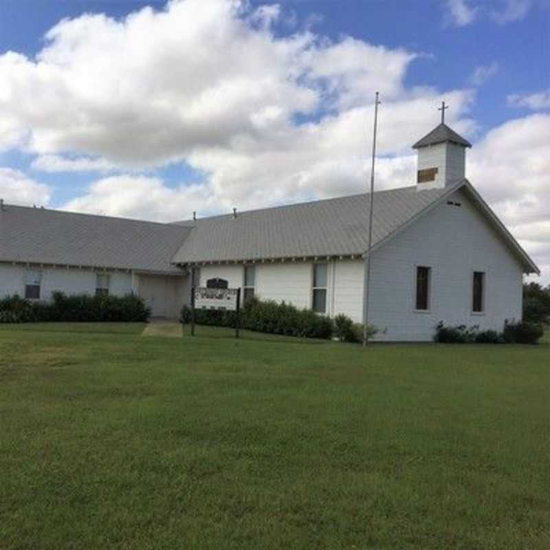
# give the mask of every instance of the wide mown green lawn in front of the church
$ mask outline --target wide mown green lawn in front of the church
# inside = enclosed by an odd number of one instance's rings
[[[550,343],[0,327],[0,548],[550,548]]]

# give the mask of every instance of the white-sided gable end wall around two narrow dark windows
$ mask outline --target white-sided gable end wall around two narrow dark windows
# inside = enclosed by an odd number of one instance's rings
[[[431,340],[434,327],[479,325],[502,330],[520,319],[522,268],[459,191],[373,254],[369,320],[377,340]],[[416,267],[431,267],[430,309],[415,311]],[[472,313],[474,271],[485,272],[485,312]]]

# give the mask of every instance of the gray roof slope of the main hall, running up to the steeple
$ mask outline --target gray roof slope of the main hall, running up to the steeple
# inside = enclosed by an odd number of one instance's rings
[[[373,245],[453,188],[418,191],[416,186],[375,193]],[[174,263],[347,256],[368,247],[371,195],[352,195],[183,221],[195,223]]]

